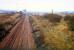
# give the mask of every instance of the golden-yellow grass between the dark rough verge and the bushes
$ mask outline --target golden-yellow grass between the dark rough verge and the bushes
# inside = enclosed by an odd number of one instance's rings
[[[40,29],[41,34],[44,36],[44,47],[47,49],[57,50],[70,50],[72,45],[69,42],[68,37],[71,36],[72,32],[69,31],[65,21],[61,20],[60,23],[54,25],[48,20],[42,17],[32,17],[34,23]],[[42,36],[42,35],[40,35]]]

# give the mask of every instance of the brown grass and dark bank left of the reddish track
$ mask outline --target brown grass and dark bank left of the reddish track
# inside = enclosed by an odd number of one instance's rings
[[[9,33],[8,31],[19,21],[19,14],[0,15],[0,41]]]

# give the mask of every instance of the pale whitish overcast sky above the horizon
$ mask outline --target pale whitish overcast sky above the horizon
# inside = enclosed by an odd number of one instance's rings
[[[27,10],[32,12],[74,11],[74,0],[0,0],[2,10]]]

